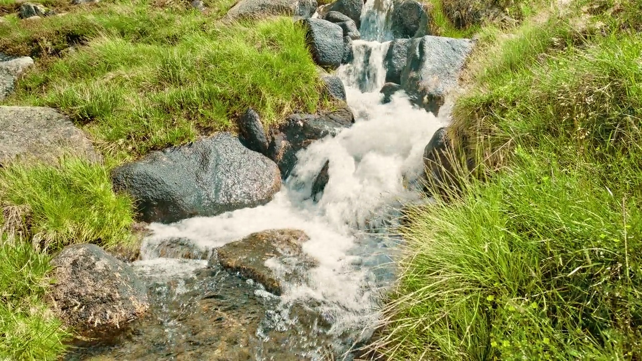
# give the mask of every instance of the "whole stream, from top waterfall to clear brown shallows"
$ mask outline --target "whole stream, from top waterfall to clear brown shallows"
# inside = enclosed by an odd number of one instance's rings
[[[379,3],[372,5],[371,3]],[[395,280],[392,262],[399,208],[421,200],[424,146],[444,121],[413,107],[403,92],[382,104],[383,58],[391,40],[386,1],[361,15],[354,60],[337,75],[356,121],[298,154],[281,191],[265,206],[175,224],[152,224],[134,267],[148,282],[147,317],[116,344],[71,353],[67,360],[352,360],[379,318],[381,294]],[[309,198],[329,161],[318,202]],[[276,296],[206,260],[160,258],[161,240],[182,238],[212,250],[250,233],[299,229],[303,252],[318,261],[306,282]],[[277,262],[271,268],[286,267]]]

